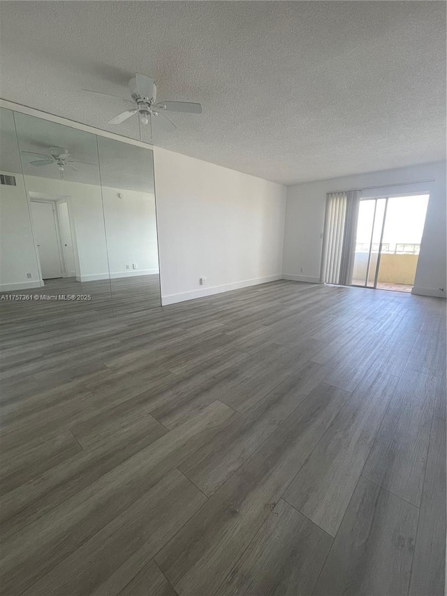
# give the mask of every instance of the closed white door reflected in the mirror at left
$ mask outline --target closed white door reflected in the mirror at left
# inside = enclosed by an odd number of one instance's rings
[[[39,260],[41,261],[42,279],[62,277],[53,205],[52,203],[31,201],[31,212]]]

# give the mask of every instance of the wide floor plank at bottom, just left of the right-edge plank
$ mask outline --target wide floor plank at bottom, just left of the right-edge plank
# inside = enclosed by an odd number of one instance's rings
[[[418,509],[360,478],[314,596],[404,596]]]

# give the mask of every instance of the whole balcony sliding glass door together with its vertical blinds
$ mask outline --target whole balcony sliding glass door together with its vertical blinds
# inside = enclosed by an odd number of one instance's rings
[[[328,193],[321,282],[411,291],[428,199],[427,194]]]

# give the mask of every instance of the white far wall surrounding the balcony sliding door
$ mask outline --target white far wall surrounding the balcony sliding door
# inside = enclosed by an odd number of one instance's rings
[[[362,196],[383,196],[388,191],[390,194],[413,191],[430,193],[413,293],[425,296],[446,296],[446,164],[444,162],[288,187],[284,231],[284,277],[319,282],[327,192],[410,183],[418,180],[434,180],[434,182],[363,191]]]

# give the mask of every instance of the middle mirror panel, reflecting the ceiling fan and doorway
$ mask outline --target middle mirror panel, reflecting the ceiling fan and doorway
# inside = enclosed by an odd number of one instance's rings
[[[15,126],[41,294],[111,312],[96,135],[18,112]]]

